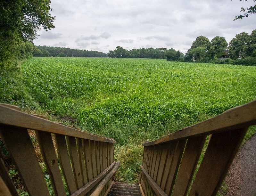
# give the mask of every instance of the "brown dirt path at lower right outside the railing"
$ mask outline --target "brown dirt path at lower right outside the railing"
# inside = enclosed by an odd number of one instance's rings
[[[227,196],[251,196],[256,192],[256,135],[235,156],[224,180]]]

